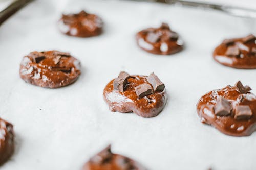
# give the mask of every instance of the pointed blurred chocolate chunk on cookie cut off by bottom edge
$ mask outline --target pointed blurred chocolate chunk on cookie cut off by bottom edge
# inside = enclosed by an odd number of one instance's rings
[[[99,152],[97,155],[90,159],[91,162],[101,164],[110,161],[112,158],[111,145]]]

